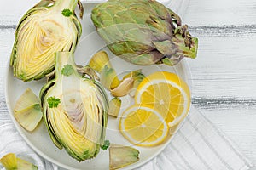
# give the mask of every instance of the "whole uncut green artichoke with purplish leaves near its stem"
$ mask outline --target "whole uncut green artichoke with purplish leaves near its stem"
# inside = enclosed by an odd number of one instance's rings
[[[176,65],[183,57],[196,57],[197,38],[154,0],[108,0],[93,8],[91,20],[113,54],[133,64]]]

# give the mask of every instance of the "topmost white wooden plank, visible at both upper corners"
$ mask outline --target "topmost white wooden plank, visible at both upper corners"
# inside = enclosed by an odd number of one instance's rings
[[[0,25],[16,25],[26,10],[36,3],[38,0],[22,0],[22,5],[19,0],[0,1]],[[256,0],[190,0],[185,11],[183,21],[190,26],[256,24]]]

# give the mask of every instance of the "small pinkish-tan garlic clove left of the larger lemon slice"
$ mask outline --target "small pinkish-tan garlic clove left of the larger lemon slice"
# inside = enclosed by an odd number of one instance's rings
[[[115,97],[122,97],[131,92],[133,88],[134,79],[132,77],[125,78],[117,88],[113,88],[110,92]]]

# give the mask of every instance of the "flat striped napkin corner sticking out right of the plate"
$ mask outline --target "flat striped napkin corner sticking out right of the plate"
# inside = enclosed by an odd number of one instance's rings
[[[141,170],[246,170],[252,163],[192,105],[171,143]]]

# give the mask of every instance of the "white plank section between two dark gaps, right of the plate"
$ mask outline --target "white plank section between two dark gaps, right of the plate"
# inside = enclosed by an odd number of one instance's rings
[[[187,59],[194,97],[255,99],[255,28],[203,26],[190,29],[192,35],[199,37],[197,59]]]

